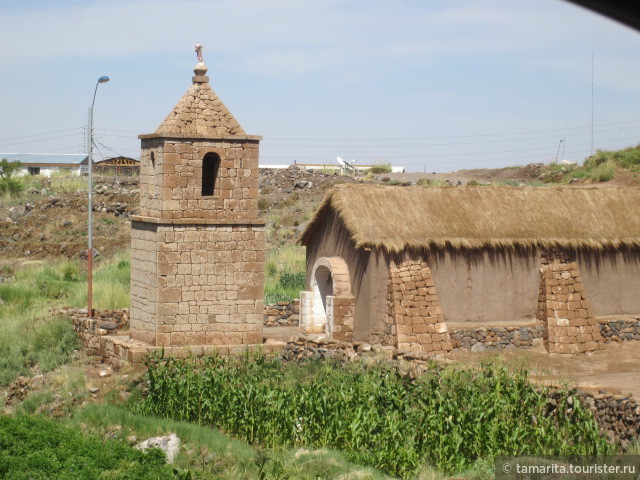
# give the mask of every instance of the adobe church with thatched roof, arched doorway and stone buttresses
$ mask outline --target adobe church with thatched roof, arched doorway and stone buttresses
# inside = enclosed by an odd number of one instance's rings
[[[301,236],[301,327],[451,350],[448,325],[544,325],[552,353],[601,348],[640,313],[640,189],[340,185]]]

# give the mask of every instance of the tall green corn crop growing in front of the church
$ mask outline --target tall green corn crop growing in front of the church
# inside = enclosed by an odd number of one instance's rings
[[[139,413],[218,428],[265,447],[342,451],[407,478],[452,474],[496,455],[607,454],[577,396],[555,404],[526,372],[438,367],[411,378],[388,363],[283,364],[263,356],[148,360]]]

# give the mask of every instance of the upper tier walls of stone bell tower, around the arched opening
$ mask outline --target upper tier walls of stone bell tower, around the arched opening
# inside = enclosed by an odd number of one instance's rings
[[[220,156],[213,196],[202,196],[202,159]],[[153,154],[153,161],[151,156]],[[258,218],[258,141],[145,138],[140,169],[140,216],[161,219]]]

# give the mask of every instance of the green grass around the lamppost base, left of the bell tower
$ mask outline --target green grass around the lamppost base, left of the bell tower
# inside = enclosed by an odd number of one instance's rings
[[[129,260],[123,253],[98,264],[94,272],[94,307],[129,306]],[[78,262],[29,262],[0,284],[0,385],[38,367],[48,372],[68,362],[77,348],[67,319],[52,317],[49,308],[85,307],[86,273]]]

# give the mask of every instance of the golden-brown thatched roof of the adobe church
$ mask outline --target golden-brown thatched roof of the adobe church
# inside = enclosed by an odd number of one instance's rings
[[[302,233],[333,210],[359,247],[405,249],[640,247],[640,189],[339,185]]]

